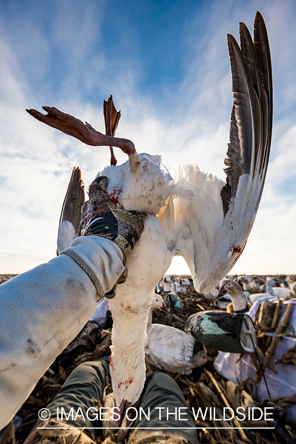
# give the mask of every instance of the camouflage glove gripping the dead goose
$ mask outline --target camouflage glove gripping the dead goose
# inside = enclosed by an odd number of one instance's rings
[[[82,209],[80,234],[101,236],[114,242],[122,251],[125,265],[126,255],[132,251],[144,228],[146,214],[117,208],[107,194],[107,185],[106,176],[97,177],[90,185],[89,201],[85,202]],[[117,283],[122,284],[126,277],[125,266]],[[115,296],[114,291],[113,294],[110,292],[110,296]]]

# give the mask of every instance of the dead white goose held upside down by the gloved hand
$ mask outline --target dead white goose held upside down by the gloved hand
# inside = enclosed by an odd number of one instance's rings
[[[196,291],[204,293],[228,274],[253,226],[265,180],[272,124],[271,59],[259,12],[254,43],[243,23],[240,39],[241,49],[228,35],[234,103],[225,159],[226,184],[196,165],[186,166],[179,177],[181,182],[175,182],[161,169],[160,156],[138,156],[131,141],[105,136],[56,108],[44,107],[45,115],[29,110],[38,120],[83,143],[115,146],[126,152],[128,162],[107,167],[99,175],[108,177],[108,193],[118,206],[148,213],[140,240],[127,257],[127,280],[110,300],[114,321],[112,388],[122,413],[139,399],[144,386],[149,307],[155,285],[172,258],[185,258]],[[110,109],[111,117],[115,116],[112,106]]]

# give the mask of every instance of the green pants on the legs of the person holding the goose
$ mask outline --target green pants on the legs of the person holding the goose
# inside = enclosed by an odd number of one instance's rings
[[[73,370],[61,390],[47,406],[52,418],[62,419],[74,427],[85,427],[85,429],[104,427],[104,423],[99,419],[87,419],[86,411],[90,407],[99,409],[98,401],[102,400],[106,376],[110,377],[109,359],[107,359],[108,357],[105,357],[99,361],[86,362]],[[72,415],[67,418],[63,412],[62,418],[62,407],[67,416],[72,407],[74,416],[76,412],[78,412],[78,415],[72,420]],[[166,373],[152,372],[147,374],[141,403],[137,408],[138,412],[140,412],[140,407],[146,415],[150,411],[149,420],[146,419],[142,410],[141,419],[140,414],[138,414],[133,427],[151,428],[151,431],[153,431],[153,428],[172,428],[168,431],[178,433],[178,435],[185,437],[190,443],[197,444],[195,424],[190,415],[189,408],[187,408],[183,393],[178,384]],[[57,411],[59,414],[58,418]],[[93,411],[96,410],[89,410],[90,418],[94,417],[92,416]],[[135,414],[135,410],[131,409],[129,411],[130,419],[134,418]],[[161,415],[160,420],[159,415]],[[42,423],[42,420],[38,420],[35,428]],[[187,429],[180,429],[180,427]],[[174,430],[173,428],[177,429]],[[94,433],[89,435],[92,435],[95,439],[102,436],[100,429],[93,429],[92,432]]]

